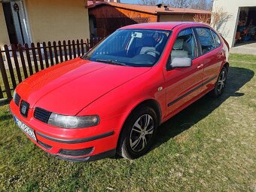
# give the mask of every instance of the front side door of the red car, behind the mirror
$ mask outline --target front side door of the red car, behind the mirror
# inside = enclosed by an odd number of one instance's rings
[[[166,78],[166,116],[187,105],[201,92],[203,78],[202,59],[198,58],[197,41],[192,29],[178,33],[169,62],[175,57],[192,59],[192,66],[176,68],[165,72]],[[167,64],[168,65],[168,64]]]

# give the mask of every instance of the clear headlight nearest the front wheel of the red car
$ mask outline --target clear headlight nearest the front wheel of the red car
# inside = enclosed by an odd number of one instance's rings
[[[77,117],[51,113],[48,124],[61,128],[85,128],[98,125],[99,116],[93,115]]]

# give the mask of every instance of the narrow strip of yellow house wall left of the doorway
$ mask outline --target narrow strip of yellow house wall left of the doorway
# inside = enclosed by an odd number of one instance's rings
[[[5,15],[2,7],[2,3],[0,3],[0,47],[4,44],[10,44],[8,30],[5,23]]]

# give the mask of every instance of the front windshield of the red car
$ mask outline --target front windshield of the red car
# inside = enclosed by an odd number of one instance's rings
[[[170,34],[156,29],[120,29],[82,58],[112,65],[151,67],[160,59]]]

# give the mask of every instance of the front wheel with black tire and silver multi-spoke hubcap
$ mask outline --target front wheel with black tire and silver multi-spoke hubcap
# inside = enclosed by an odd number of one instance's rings
[[[157,126],[157,114],[152,108],[136,108],[123,125],[117,154],[128,160],[142,157],[151,148]]]

